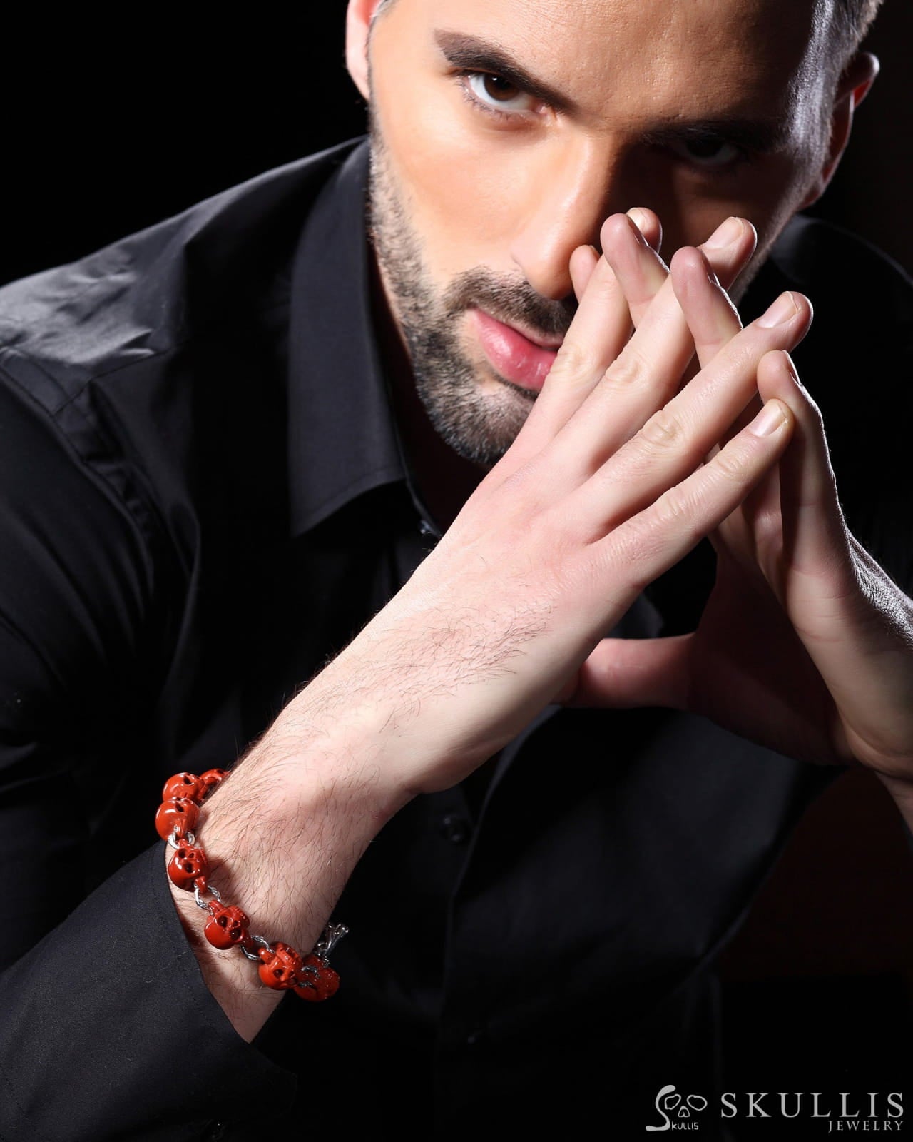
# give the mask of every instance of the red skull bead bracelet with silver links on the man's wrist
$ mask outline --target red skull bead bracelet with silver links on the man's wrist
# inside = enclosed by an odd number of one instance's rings
[[[348,932],[344,924],[328,924],[310,955],[300,956],[288,943],[270,944],[261,935],[251,935],[250,920],[244,912],[235,904],[223,903],[218,890],[209,883],[209,861],[193,830],[203,801],[226,777],[225,770],[207,770],[200,777],[176,773],[165,781],[155,828],[175,850],[168,863],[168,876],[178,888],[193,892],[197,908],[209,912],[203,935],[213,948],[240,948],[248,959],[259,965],[260,980],[268,988],[277,991],[291,988],[310,1003],[329,999],[339,987],[339,975],[330,967],[329,957]],[[205,895],[212,899],[204,900]]]

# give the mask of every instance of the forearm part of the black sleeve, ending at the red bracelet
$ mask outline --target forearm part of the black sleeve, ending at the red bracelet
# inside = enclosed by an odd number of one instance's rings
[[[0,1136],[181,1140],[264,1126],[297,1080],[203,981],[157,843],[0,978]]]

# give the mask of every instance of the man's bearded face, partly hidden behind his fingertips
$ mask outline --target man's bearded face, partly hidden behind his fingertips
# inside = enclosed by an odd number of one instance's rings
[[[609,214],[654,209],[666,258],[741,215],[760,265],[823,163],[827,6],[397,0],[378,18],[378,264],[458,453],[487,467],[516,436],[575,308],[571,254]]]

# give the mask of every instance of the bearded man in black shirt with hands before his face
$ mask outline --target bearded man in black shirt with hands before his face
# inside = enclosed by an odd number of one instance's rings
[[[371,260],[348,145],[5,292],[0,1133],[627,1136],[713,1096],[709,967],[802,807],[854,763],[913,819],[908,540],[832,376],[907,287],[814,226],[773,252],[871,15],[352,0]],[[888,571],[789,356],[835,266],[810,361]],[[350,926],[325,1005],[140,852],[161,781],[251,741],[211,882],[302,951]]]

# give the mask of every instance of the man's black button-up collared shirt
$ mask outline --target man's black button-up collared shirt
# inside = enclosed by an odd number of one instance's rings
[[[0,1137],[643,1129],[660,1086],[712,1094],[708,965],[833,777],[697,717],[550,707],[369,847],[339,995],[235,1035],[152,844],[160,787],[231,764],[436,539],[365,175],[346,144],[0,291]],[[850,524],[908,587],[910,286],[809,220],[749,316],[786,286],[818,309],[797,360]],[[698,549],[619,633],[687,629],[710,574]]]

